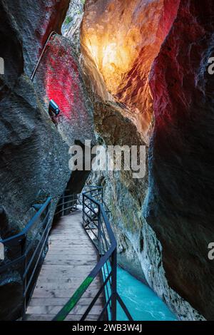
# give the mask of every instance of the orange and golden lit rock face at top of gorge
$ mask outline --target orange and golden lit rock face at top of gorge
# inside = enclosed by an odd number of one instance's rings
[[[173,23],[178,3],[178,0],[86,1],[81,46],[88,72],[96,78],[96,91],[106,100],[103,85],[106,86],[116,100],[138,115],[144,132],[153,114],[148,76]],[[101,73],[100,85],[95,71]]]

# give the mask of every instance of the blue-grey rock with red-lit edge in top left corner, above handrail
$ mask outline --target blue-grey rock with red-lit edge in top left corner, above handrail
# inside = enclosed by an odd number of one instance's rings
[[[51,31],[61,33],[61,25],[66,16],[69,0],[1,0],[2,11],[6,11],[7,21],[16,29],[23,57],[24,71],[28,76],[34,66]],[[3,14],[3,12],[2,12]],[[4,14],[1,24],[4,25]],[[16,56],[16,49],[11,53]]]

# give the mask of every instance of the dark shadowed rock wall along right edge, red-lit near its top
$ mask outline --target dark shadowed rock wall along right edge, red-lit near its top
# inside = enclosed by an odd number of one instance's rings
[[[214,2],[180,1],[150,76],[155,128],[147,222],[163,247],[171,288],[214,319]]]

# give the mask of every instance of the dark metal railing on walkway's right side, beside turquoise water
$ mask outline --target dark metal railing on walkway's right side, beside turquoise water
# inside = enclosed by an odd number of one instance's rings
[[[103,293],[106,297],[106,301],[101,314],[98,316],[98,321],[103,319],[116,321],[117,303],[121,305],[128,320],[133,321],[131,314],[117,292],[117,243],[108,220],[108,207],[103,202],[103,188],[87,188],[88,190],[82,194],[83,227],[91,237],[98,251],[99,259],[96,267],[93,268],[71,299],[68,300],[61,311],[54,317],[54,321],[63,321],[66,319],[94,279],[100,274],[103,278],[101,288],[98,290],[96,296],[93,297],[80,321],[86,320],[88,314],[90,314],[90,311],[96,304],[96,301]]]

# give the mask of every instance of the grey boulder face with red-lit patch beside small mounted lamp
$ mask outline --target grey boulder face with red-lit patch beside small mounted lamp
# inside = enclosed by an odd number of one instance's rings
[[[51,37],[34,78],[36,91],[46,110],[54,99],[61,110],[56,124],[68,145],[73,140],[93,140],[93,112],[83,86],[81,70],[71,41],[55,34]]]

